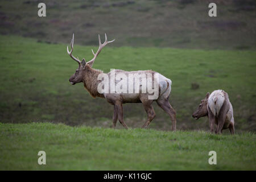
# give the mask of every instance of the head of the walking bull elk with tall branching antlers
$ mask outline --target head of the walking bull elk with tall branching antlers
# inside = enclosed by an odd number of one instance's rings
[[[99,43],[98,51],[96,53],[94,53],[93,49],[92,49],[92,53],[93,53],[94,57],[92,60],[90,60],[86,63],[85,59],[82,59],[82,61],[80,61],[78,57],[76,58],[72,55],[73,45],[74,45],[74,34],[73,34],[73,38],[71,40],[71,51],[69,52],[69,49],[67,46],[67,52],[68,52],[68,55],[79,64],[79,67],[76,69],[76,72],[69,78],[69,82],[71,82],[72,85],[82,82],[82,80],[84,79],[84,76],[85,76],[85,72],[86,72],[86,69],[85,69],[86,65],[88,65],[90,68],[92,68],[96,57],[101,52],[101,49],[104,46],[106,46],[106,44],[114,42],[114,40],[108,42],[107,36],[105,34],[105,42],[103,44],[101,44],[101,38],[100,38],[100,35],[98,35],[98,43]]]

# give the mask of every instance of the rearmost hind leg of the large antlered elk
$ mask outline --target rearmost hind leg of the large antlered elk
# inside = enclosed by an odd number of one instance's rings
[[[169,98],[169,97],[168,97]],[[170,115],[172,121],[172,131],[176,131],[176,111],[172,108],[169,99],[156,101],[158,105]]]

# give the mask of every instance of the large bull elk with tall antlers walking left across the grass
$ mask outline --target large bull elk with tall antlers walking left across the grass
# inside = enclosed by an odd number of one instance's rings
[[[82,61],[80,61],[78,57],[76,58],[72,55],[74,44],[73,34],[73,38],[71,40],[71,51],[69,51],[69,48],[67,47],[67,52],[69,56],[71,56],[71,58],[79,64],[79,67],[76,69],[74,75],[72,75],[69,78],[69,82],[71,82],[72,85],[75,85],[79,82],[83,82],[85,89],[88,90],[92,97],[105,98],[110,104],[114,105],[113,128],[115,128],[118,119],[119,122],[123,125],[123,127],[128,129],[126,123],[123,121],[122,104],[125,103],[143,104],[144,109],[147,112],[147,121],[144,123],[142,127],[146,128],[148,125],[150,125],[152,119],[155,118],[155,111],[154,108],[152,107],[152,102],[156,101],[156,103],[170,116],[172,121],[172,131],[176,131],[176,111],[172,108],[169,102],[169,96],[171,93],[171,80],[164,77],[163,75],[160,75],[159,73],[151,70],[128,72],[118,69],[116,70],[116,72],[114,72],[115,75],[122,73],[122,75],[125,76],[129,76],[129,74],[146,75],[146,77],[148,75],[157,75],[158,79],[156,79],[156,81],[152,81],[152,83],[154,82],[154,84],[158,86],[156,87],[158,91],[158,96],[154,99],[149,99],[149,96],[152,93],[149,93],[148,91],[146,93],[142,92],[142,85],[139,85],[139,93],[101,93],[98,91],[98,85],[101,83],[101,80],[98,80],[98,76],[103,72],[98,69],[92,68],[93,63],[96,57],[101,52],[101,49],[104,48],[108,43],[114,42],[114,40],[108,41],[107,36],[105,34],[105,42],[103,44],[101,43],[100,35],[98,35],[98,42],[99,47],[97,52],[94,53],[92,49],[92,53],[94,55],[93,59],[88,62],[86,62],[85,59],[82,59]],[[111,76],[112,71],[104,74]],[[139,78],[139,82],[141,82],[141,80],[142,77]],[[117,85],[118,82],[114,82],[114,84]]]

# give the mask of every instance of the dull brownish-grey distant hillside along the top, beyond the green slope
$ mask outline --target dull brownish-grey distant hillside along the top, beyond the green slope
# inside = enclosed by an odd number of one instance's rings
[[[47,16],[38,17],[37,0],[0,2],[0,34],[47,42],[95,45],[107,32],[114,46],[203,49],[255,49],[254,0],[46,0]]]

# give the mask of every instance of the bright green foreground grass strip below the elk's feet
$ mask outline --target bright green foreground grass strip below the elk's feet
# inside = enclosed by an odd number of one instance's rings
[[[253,133],[0,123],[0,170],[255,170],[255,140]],[[212,150],[217,165],[208,164]]]

